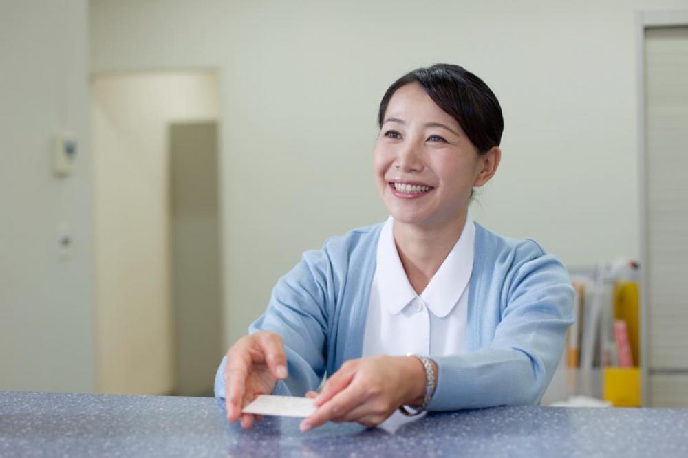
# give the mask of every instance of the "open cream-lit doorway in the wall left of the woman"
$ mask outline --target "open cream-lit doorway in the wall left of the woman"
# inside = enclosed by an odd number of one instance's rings
[[[215,72],[91,82],[98,391],[211,395],[222,356]]]

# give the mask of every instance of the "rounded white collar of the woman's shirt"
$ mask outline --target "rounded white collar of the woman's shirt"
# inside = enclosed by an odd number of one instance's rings
[[[380,231],[376,277],[380,302],[390,314],[398,314],[418,297],[406,276],[394,242],[394,219],[390,216]],[[466,290],[473,272],[475,224],[466,215],[461,236],[428,283],[420,298],[440,318],[447,316]]]

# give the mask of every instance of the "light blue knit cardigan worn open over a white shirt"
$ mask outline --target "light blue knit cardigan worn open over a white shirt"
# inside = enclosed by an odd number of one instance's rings
[[[273,394],[303,395],[325,373],[361,358],[382,224],[332,237],[272,290],[249,331],[273,331],[285,344],[289,377]],[[428,410],[538,404],[574,320],[573,288],[561,263],[533,240],[501,237],[475,223],[468,301],[468,353],[433,357],[438,384]],[[215,396],[224,397],[225,359]]]

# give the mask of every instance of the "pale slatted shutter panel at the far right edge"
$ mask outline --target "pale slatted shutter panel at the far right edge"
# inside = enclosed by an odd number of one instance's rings
[[[687,406],[688,27],[645,31],[645,109],[650,403]]]

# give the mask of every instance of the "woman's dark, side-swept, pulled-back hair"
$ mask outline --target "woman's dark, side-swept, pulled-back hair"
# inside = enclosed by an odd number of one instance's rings
[[[383,126],[385,111],[397,89],[418,83],[461,129],[481,154],[499,146],[504,131],[502,107],[483,80],[458,65],[436,64],[409,72],[396,80],[380,102],[378,124]]]

